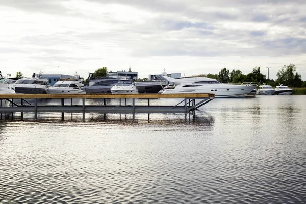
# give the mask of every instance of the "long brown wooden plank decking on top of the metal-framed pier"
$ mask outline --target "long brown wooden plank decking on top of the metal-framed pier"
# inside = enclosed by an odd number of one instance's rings
[[[179,94],[0,94],[0,99],[32,98],[214,98],[212,93]]]

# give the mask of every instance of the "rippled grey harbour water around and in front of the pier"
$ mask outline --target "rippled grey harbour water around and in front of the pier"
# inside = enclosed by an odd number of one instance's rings
[[[4,115],[0,203],[305,203],[305,115],[306,96],[218,98],[187,120]]]

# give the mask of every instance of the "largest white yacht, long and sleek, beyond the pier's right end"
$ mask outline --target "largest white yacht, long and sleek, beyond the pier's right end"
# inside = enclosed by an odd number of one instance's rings
[[[163,75],[169,82],[174,83],[173,89],[165,89],[162,94],[171,93],[214,93],[215,97],[244,97],[256,86],[245,84],[223,84],[207,77],[187,77],[174,79]]]

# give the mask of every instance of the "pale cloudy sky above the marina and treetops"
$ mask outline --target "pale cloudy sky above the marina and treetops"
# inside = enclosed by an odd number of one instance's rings
[[[0,0],[0,71],[196,75],[293,63],[306,80],[305,0]]]

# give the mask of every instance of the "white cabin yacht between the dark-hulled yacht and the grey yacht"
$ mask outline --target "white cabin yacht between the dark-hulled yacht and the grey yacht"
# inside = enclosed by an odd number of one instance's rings
[[[86,91],[81,90],[77,81],[58,81],[53,87],[46,88],[46,92],[50,94],[66,93],[66,94],[85,94]]]

